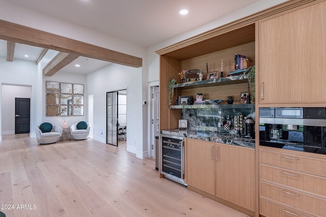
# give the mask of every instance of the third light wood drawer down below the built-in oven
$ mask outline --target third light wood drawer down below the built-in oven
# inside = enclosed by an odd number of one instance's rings
[[[326,200],[298,191],[260,182],[260,197],[274,200],[307,213],[322,216],[326,213]]]

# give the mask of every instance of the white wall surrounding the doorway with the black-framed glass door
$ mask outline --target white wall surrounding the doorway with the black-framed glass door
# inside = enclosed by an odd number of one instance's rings
[[[111,64],[87,75],[88,95],[93,95],[93,139],[106,143],[106,92],[127,89],[127,151],[148,157],[143,141],[142,70]],[[100,134],[100,131],[103,134]]]

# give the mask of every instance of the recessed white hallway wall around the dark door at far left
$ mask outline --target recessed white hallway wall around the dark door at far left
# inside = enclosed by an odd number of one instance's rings
[[[15,98],[31,98],[30,86],[2,85],[2,134],[15,134]]]

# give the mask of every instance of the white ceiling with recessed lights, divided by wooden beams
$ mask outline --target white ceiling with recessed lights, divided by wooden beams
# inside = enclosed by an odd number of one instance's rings
[[[150,47],[260,0],[7,0],[107,35]],[[179,10],[187,9],[187,15]],[[36,60],[42,48],[16,43],[14,58]],[[0,40],[0,56],[7,42]],[[82,64],[75,68],[75,62]],[[87,74],[107,65],[101,60],[78,57],[62,71]],[[90,67],[92,65],[93,67]],[[92,70],[92,71],[89,71]]]

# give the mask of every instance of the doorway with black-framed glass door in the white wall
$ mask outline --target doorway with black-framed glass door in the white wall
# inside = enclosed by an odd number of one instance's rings
[[[127,89],[106,93],[106,143],[118,146],[127,141]]]

